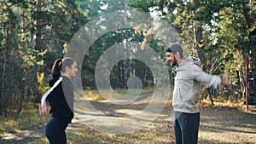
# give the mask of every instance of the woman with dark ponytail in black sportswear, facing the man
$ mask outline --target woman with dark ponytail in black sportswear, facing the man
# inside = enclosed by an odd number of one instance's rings
[[[52,66],[52,79],[49,86],[52,89],[45,98],[51,107],[45,135],[50,144],[66,144],[65,130],[73,119],[73,85],[70,81],[78,72],[77,62],[73,58],[55,60]]]

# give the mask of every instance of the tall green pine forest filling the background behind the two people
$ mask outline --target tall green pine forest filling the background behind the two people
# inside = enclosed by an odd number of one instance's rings
[[[180,33],[191,55],[201,58],[207,72],[229,73],[235,79],[235,89],[229,95],[236,100],[243,96],[244,55],[251,50],[247,36],[256,26],[254,1],[2,0],[0,3],[2,116],[38,104],[50,78],[51,65],[65,55],[69,41],[80,27],[99,15],[122,10],[157,12],[160,19]],[[103,52],[123,42],[127,45],[120,46],[120,50],[125,51],[132,41],[147,42],[164,59],[165,45],[157,39],[138,35],[133,29],[108,32],[84,55],[81,69],[84,89],[96,89],[96,61]],[[121,60],[111,73],[113,88],[126,89],[131,76],[140,78],[144,88],[154,86],[153,74],[142,61]]]

